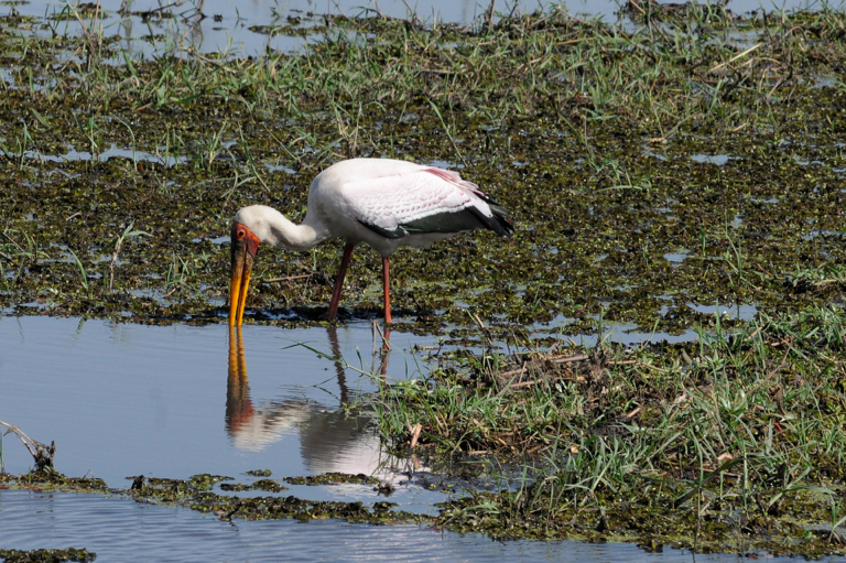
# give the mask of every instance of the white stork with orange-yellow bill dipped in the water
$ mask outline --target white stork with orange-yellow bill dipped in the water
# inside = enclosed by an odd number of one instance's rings
[[[307,250],[344,238],[344,257],[327,312],[334,320],[344,277],[356,245],[382,256],[384,321],[391,322],[388,260],[399,247],[427,247],[458,232],[489,229],[508,236],[506,210],[457,172],[388,159],[351,159],[321,172],[308,191],[302,225],[264,205],[243,207],[232,220],[229,324],[243,318],[250,273],[259,242],[286,250]]]

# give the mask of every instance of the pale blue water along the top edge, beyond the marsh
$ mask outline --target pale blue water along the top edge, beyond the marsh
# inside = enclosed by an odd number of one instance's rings
[[[164,37],[164,46],[185,48],[195,47],[202,53],[228,53],[239,56],[256,55],[267,47],[292,51],[302,48],[307,39],[292,37],[274,33],[258,33],[250,28],[267,25],[290,25],[294,20],[289,18],[304,18],[294,26],[307,29],[321,23],[319,19],[313,20],[308,14],[345,14],[377,15],[379,13],[406,19],[415,13],[423,22],[436,24],[437,22],[458,23],[468,25],[484,17],[490,6],[486,0],[425,0],[421,2],[408,0],[252,0],[250,2],[236,2],[234,0],[177,0],[167,2],[163,0],[127,0],[126,4],[131,17],[121,17],[117,12],[124,0],[100,0],[99,4],[105,11],[99,22],[106,36],[119,35],[122,39],[121,48],[129,53],[150,55],[151,50],[144,36],[156,34]],[[626,2],[621,0],[494,0],[498,13],[533,12],[547,9],[551,6],[561,6],[568,13],[576,17],[601,18],[606,22],[620,21],[622,14],[620,7]],[[662,2],[669,3],[669,2]],[[706,3],[706,2],[702,2]],[[716,3],[716,2],[711,2]],[[844,1],[831,1],[826,6],[829,9],[843,9]],[[70,15],[54,22],[59,34],[78,34],[80,25],[74,12],[67,8],[77,6],[76,1],[44,1],[36,0],[22,4],[15,4],[14,9],[23,15],[45,17],[62,14]],[[753,10],[763,8],[767,11],[794,9],[822,9],[822,2],[816,0],[730,0],[728,8],[735,13],[748,14]],[[161,10],[156,12],[156,10]],[[141,12],[152,12],[147,18],[138,15]],[[170,14],[163,18],[162,14]],[[89,14],[83,13],[84,20],[90,20]],[[160,46],[161,42],[160,42]],[[122,61],[122,59],[121,59]]]

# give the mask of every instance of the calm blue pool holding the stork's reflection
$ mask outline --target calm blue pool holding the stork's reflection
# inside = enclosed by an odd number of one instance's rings
[[[357,391],[375,389],[372,379],[318,355],[379,372],[366,323],[246,326],[235,360],[224,324],[0,317],[0,342],[2,420],[33,440],[55,440],[56,466],[70,476],[91,473],[124,487],[138,474],[371,474],[390,463],[367,421],[338,411]],[[403,348],[431,343],[394,333],[387,377],[415,373]],[[7,470],[25,472],[29,454],[10,437],[4,446]]]

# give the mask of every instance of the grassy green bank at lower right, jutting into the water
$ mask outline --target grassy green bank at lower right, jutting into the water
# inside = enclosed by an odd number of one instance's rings
[[[844,351],[843,312],[814,308],[687,345],[458,356],[373,408],[399,450],[420,425],[419,454],[541,467],[445,526],[818,556],[846,550]]]

